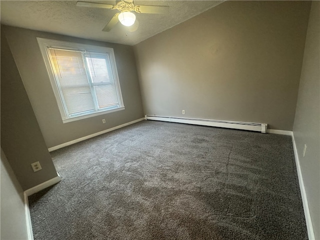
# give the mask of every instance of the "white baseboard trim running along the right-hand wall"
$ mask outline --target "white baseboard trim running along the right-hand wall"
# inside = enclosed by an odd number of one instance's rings
[[[300,192],[301,192],[301,198],[302,198],[302,204],[303,204],[306,229],[308,231],[309,240],[314,240],[315,239],[314,238],[314,231],[313,231],[312,220],[311,220],[310,211],[309,211],[308,199],[307,199],[306,193],[305,193],[302,172],[301,172],[301,168],[300,168],[300,161],[299,161],[299,156],[298,156],[298,152],[297,152],[296,145],[295,145],[293,132],[292,132],[291,136],[292,136],[292,144],[293,144],[293,152],[294,152],[294,158],[295,158],[296,171],[298,174],[298,180],[299,180],[299,186],[300,186]]]

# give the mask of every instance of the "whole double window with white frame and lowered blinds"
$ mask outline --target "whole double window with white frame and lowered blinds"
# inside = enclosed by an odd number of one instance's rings
[[[63,122],[124,109],[112,48],[37,40]]]

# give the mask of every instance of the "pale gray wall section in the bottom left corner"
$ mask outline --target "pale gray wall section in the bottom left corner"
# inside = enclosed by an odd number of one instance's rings
[[[1,239],[28,239],[23,191],[1,148]]]

